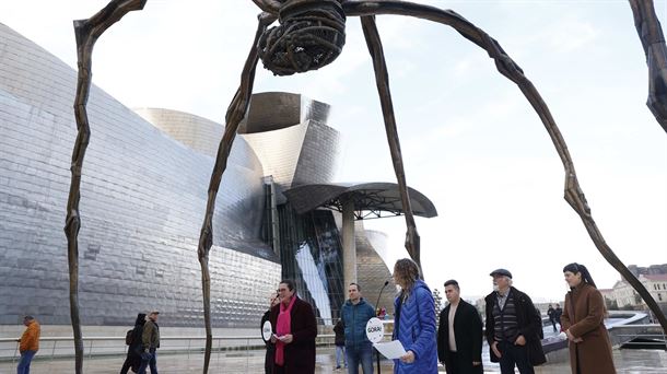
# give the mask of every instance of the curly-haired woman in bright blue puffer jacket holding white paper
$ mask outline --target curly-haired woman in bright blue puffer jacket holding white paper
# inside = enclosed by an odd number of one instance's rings
[[[394,301],[394,339],[400,340],[407,352],[394,360],[394,373],[437,373],[433,294],[420,279],[419,266],[409,258],[396,261],[394,281],[401,288]]]

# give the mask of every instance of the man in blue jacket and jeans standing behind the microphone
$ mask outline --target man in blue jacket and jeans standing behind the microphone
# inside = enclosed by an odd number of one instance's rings
[[[373,343],[366,338],[366,324],[375,317],[375,307],[361,296],[356,283],[350,283],[348,294],[350,299],[340,308],[346,327],[348,373],[358,374],[361,364],[364,374],[373,374]]]

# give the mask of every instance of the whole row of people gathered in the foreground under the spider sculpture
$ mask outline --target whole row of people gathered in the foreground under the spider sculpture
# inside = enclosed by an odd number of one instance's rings
[[[573,374],[615,374],[611,343],[604,325],[605,304],[585,266],[570,264],[563,268],[571,291],[564,309],[559,305],[549,317],[561,324],[570,340]],[[482,342],[489,344],[492,362],[500,363],[501,373],[518,369],[522,374],[535,373],[536,365],[547,362],[541,346],[542,318],[531,299],[513,285],[506,269],[493,270],[493,292],[485,297],[485,322],[473,305],[460,296],[456,280],[445,282],[448,305],[436,311],[433,294],[411,259],[400,259],[394,267],[394,280],[400,291],[394,302],[394,340],[399,340],[406,354],[394,360],[394,373],[437,373],[438,362],[447,373],[483,373]],[[347,366],[349,374],[373,373],[373,344],[365,334],[375,307],[363,296],[361,287],[348,287],[349,299],[341,307],[336,332],[336,369]],[[296,296],[294,282],[280,282],[271,295],[271,307],[265,314],[272,335],[266,340],[266,373],[300,374],[315,372],[315,337],[317,328],[312,306]],[[561,315],[562,313],[562,315]],[[555,327],[555,324],[554,324]]]

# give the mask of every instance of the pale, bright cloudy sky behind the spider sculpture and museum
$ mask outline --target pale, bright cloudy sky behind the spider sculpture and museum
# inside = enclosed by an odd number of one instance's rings
[[[606,242],[624,264],[667,262],[667,133],[645,105],[647,68],[625,0],[420,1],[452,9],[494,37],[535,84],[567,143]],[[72,20],[105,0],[0,2],[0,22],[75,67]],[[655,0],[667,23],[667,1]],[[93,82],[128,107],[184,110],[219,122],[235,93],[259,9],[250,0],[148,0],[98,40]],[[417,220],[431,288],[456,279],[464,297],[510,269],[535,300],[566,292],[562,268],[586,265],[599,288],[620,279],[563,199],[564,170],[518,87],[454,30],[382,15],[408,185],[438,217]],[[341,132],[337,182],[395,182],[360,20],[342,55],[318,71],[273,77],[254,92],[301,93],[331,105]],[[402,257],[405,220],[371,220]],[[390,266],[391,268],[391,266]]]

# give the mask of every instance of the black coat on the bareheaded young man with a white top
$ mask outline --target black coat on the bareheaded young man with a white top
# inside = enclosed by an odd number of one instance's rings
[[[440,313],[440,326],[437,327],[437,358],[444,362],[447,372],[452,372],[452,352],[449,349],[449,311],[447,305]],[[456,353],[460,374],[481,373],[482,365],[472,366],[472,362],[482,362],[482,319],[475,306],[459,301],[454,314],[454,339],[456,340]]]

